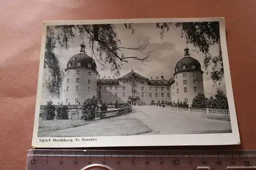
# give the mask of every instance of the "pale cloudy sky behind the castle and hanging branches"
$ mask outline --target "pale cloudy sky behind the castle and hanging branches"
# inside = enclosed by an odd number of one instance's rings
[[[133,28],[135,30],[134,34],[132,34],[130,30],[125,29],[124,25],[115,25],[115,27],[117,36],[121,41],[120,46],[122,47],[136,46],[138,42],[142,44],[144,40],[148,40],[144,52],[151,51],[150,59],[152,60],[150,62],[145,62],[145,64],[148,66],[134,59],[127,60],[128,63],[123,62],[119,77],[126,75],[133,69],[141,76],[149,79],[151,77],[153,77],[153,79],[155,79],[156,77],[160,78],[161,75],[163,75],[165,79],[170,79],[173,77],[175,65],[180,59],[184,57],[184,48],[187,45],[187,47],[189,48],[190,56],[197,59],[200,62],[202,66],[202,71],[204,71],[203,83],[206,97],[214,95],[217,88],[221,88],[226,93],[225,79],[223,78],[221,85],[213,86],[213,83],[209,77],[210,75],[206,75],[206,70],[203,67],[203,54],[194,52],[195,47],[193,47],[190,44],[186,44],[186,39],[180,37],[180,28],[170,26],[170,30],[168,32],[165,32],[163,39],[161,39],[160,30],[156,29],[155,23],[133,24]],[[81,42],[82,39],[77,35],[73,39],[73,41],[69,41],[68,50],[59,46],[55,48],[55,54],[59,56],[60,64],[63,69],[67,67],[69,59],[73,55],[79,53]],[[91,56],[92,50],[91,47],[88,45],[88,39],[84,38],[84,44],[86,44],[86,53],[89,56]],[[210,48],[211,55],[218,55],[218,51],[219,49],[217,46],[213,46]],[[125,57],[144,57],[143,54],[132,50],[124,50],[123,53]],[[98,61],[95,60],[95,62],[97,64],[97,70],[99,72],[100,77],[106,76],[106,78],[108,78],[110,76],[111,78],[113,78],[113,76],[115,76],[114,72],[110,71],[109,64],[105,64],[104,68],[101,64],[98,63]],[[210,70],[211,69],[209,69],[209,71]],[[44,88],[43,91],[45,91]],[[41,104],[46,103],[46,101],[48,101],[48,99],[43,98]],[[60,100],[56,101],[60,102]]]

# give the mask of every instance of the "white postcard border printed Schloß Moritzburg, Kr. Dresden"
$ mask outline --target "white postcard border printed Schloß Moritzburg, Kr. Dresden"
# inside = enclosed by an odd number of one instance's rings
[[[135,136],[92,136],[92,137],[38,137],[39,110],[44,72],[46,27],[53,25],[87,25],[104,23],[153,23],[153,22],[203,22],[219,21],[220,40],[224,66],[224,77],[228,98],[232,133],[218,134],[179,134],[179,135],[135,135]],[[82,141],[96,139],[94,141]],[[51,139],[50,142],[40,142],[41,139]],[[54,139],[73,139],[73,142],[53,141]],[[79,139],[80,141],[76,141]],[[230,145],[240,144],[237,114],[234,105],[230,68],[227,54],[225,19],[215,18],[149,18],[149,19],[105,19],[105,20],[76,20],[76,21],[45,21],[42,30],[38,86],[32,139],[33,148],[80,148],[80,147],[132,147],[132,146],[165,146],[165,145]]]

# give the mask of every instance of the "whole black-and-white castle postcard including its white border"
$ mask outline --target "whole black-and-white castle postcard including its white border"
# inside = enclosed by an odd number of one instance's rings
[[[32,145],[239,144],[224,18],[46,21]]]

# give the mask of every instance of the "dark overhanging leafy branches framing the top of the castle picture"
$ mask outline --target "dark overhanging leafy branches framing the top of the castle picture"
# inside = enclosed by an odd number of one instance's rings
[[[160,38],[164,38],[164,33],[168,32],[172,25],[181,28],[181,37],[185,38],[187,43],[192,44],[197,52],[204,54],[204,67],[206,73],[210,74],[212,82],[215,84],[221,82],[224,69],[220,48],[219,22],[156,23],[156,29],[160,30]],[[130,30],[131,34],[136,31],[131,23],[125,23],[124,27]],[[129,59],[141,61],[143,64],[151,61],[151,51],[146,51],[148,41],[144,40],[143,43],[138,42],[137,45],[130,47],[121,46],[121,40],[117,36],[115,25],[47,26],[44,66],[49,70],[50,75],[45,85],[51,96],[59,98],[63,80],[63,71],[60,68],[58,56],[54,53],[56,43],[68,49],[69,41],[77,36],[88,39],[92,57],[103,66],[106,63],[110,64],[111,71],[114,71],[116,75],[120,74],[122,63],[128,62]],[[218,56],[212,56],[209,53],[209,48],[213,45],[219,45]],[[144,57],[126,57],[123,50],[137,51],[143,54]],[[208,72],[210,66],[212,71]]]

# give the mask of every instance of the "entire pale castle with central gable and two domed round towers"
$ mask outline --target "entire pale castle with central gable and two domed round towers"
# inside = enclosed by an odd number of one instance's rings
[[[70,58],[65,69],[65,94],[63,104],[78,105],[93,95],[104,103],[131,102],[132,105],[150,105],[151,101],[172,103],[192,100],[199,92],[204,92],[203,71],[198,60],[185,55],[175,66],[173,78],[162,75],[155,79],[139,75],[133,69],[126,75],[115,78],[100,78],[95,61],[86,54],[82,43],[79,54]]]

